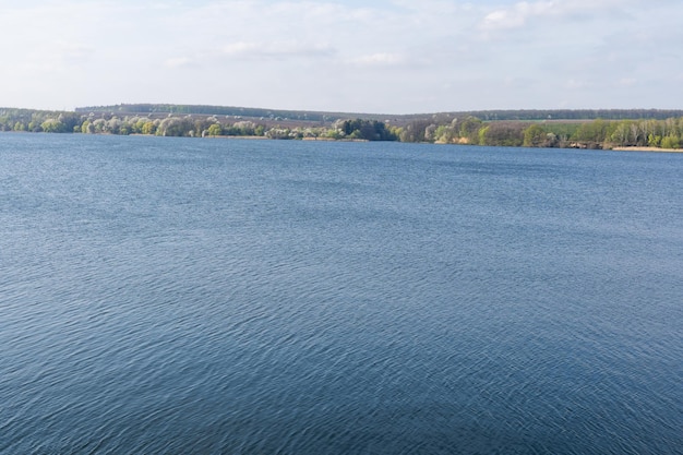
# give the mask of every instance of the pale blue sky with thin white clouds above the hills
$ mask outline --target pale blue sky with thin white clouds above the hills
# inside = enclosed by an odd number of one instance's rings
[[[681,0],[0,0],[0,106],[683,108]]]

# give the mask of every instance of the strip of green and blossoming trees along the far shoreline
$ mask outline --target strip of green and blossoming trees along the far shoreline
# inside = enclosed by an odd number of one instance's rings
[[[262,136],[400,141],[491,146],[681,148],[683,116],[666,119],[484,120],[475,116],[433,115],[398,125],[375,119],[338,119],[315,125],[267,124],[230,116],[152,113],[119,116],[31,109],[0,109],[0,131],[160,136]]]

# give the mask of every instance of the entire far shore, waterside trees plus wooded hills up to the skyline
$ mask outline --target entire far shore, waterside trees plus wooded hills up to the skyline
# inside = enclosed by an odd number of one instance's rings
[[[500,110],[381,116],[179,105],[119,105],[75,111],[0,108],[0,131],[681,148],[683,111]]]

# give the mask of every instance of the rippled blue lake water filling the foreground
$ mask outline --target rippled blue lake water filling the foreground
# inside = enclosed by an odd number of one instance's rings
[[[1,454],[683,453],[683,154],[0,135]]]

